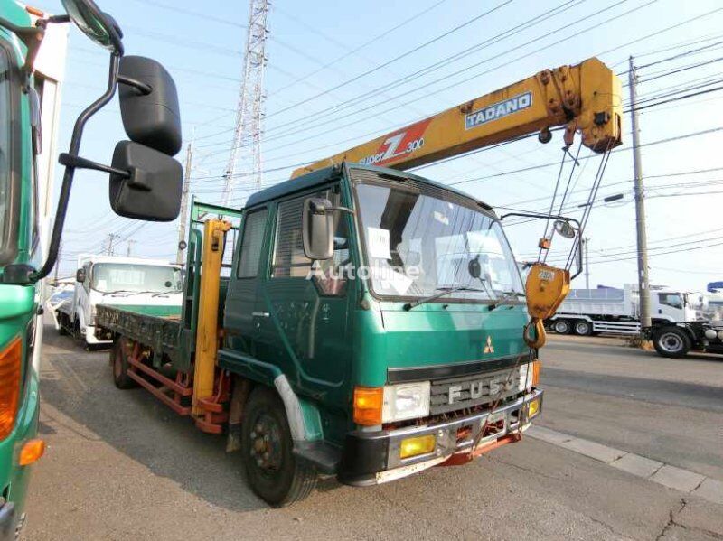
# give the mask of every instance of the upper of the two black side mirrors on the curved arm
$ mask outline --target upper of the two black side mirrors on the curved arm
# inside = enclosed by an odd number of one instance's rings
[[[174,79],[149,58],[124,56],[118,68],[120,116],[128,138],[173,156],[181,150],[181,114]]]

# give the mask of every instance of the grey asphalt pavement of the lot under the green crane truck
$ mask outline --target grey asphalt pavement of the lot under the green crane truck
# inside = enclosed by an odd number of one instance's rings
[[[591,340],[549,340],[540,426],[723,480],[723,362]],[[117,390],[107,351],[46,327],[41,376],[26,539],[723,538],[723,505],[533,437],[379,487],[325,480],[272,509],[221,436]]]

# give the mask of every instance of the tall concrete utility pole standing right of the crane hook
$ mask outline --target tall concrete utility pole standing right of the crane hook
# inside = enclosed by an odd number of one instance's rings
[[[645,231],[645,191],[643,190],[643,163],[640,157],[640,127],[638,121],[637,73],[633,57],[628,70],[630,82],[630,116],[633,124],[633,173],[635,177],[635,229],[638,244],[638,292],[640,295],[640,323],[650,327],[650,281],[648,279],[648,239]],[[644,345],[643,345],[644,347]]]

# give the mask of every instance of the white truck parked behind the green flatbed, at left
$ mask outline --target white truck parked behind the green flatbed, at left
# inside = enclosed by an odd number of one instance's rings
[[[56,327],[88,348],[109,345],[112,337],[95,327],[99,304],[155,306],[155,315],[177,312],[183,299],[181,267],[138,257],[78,257],[73,296],[55,308]]]

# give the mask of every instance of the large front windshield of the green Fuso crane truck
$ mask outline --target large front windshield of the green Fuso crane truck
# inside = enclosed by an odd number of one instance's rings
[[[435,195],[359,184],[362,238],[374,294],[426,297],[459,286],[444,296],[489,301],[522,294],[520,271],[500,223],[473,208]],[[470,275],[470,262],[481,275]]]

